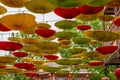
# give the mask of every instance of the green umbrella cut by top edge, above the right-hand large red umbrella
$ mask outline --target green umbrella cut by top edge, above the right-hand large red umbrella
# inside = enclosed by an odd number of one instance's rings
[[[104,6],[110,1],[111,0],[88,0],[87,4],[90,6]]]

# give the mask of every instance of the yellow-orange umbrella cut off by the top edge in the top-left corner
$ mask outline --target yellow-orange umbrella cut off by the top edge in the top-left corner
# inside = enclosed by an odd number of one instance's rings
[[[29,0],[0,0],[1,3],[8,7],[21,8],[24,7],[24,4]]]

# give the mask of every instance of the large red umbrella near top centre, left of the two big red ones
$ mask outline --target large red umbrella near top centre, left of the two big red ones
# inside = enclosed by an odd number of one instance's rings
[[[54,13],[57,14],[58,16],[62,17],[62,18],[71,19],[71,18],[74,18],[74,17],[78,16],[80,14],[80,10],[78,10],[77,8],[57,7],[54,10]]]

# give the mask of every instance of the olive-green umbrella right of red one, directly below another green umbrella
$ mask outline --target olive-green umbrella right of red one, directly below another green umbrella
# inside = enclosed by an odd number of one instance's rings
[[[61,39],[71,39],[75,35],[74,32],[60,31],[56,32],[55,36]]]

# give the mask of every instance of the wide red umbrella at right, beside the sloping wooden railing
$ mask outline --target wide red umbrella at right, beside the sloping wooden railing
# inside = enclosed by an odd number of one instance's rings
[[[100,52],[101,54],[110,54],[113,53],[117,48],[117,46],[102,46],[96,48],[96,51]]]

